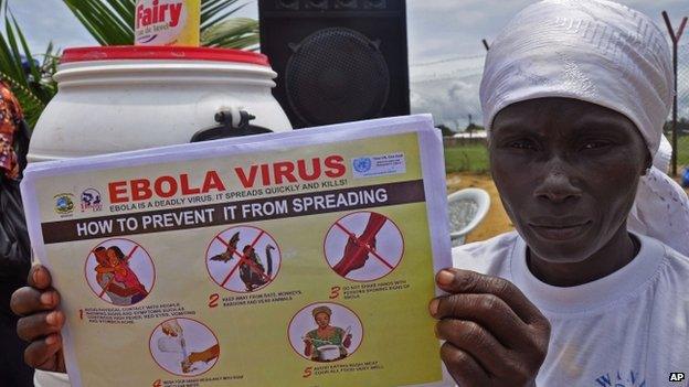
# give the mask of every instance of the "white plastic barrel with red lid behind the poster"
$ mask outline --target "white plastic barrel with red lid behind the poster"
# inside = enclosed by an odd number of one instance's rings
[[[36,123],[29,161],[189,142],[240,111],[251,125],[292,130],[271,89],[276,73],[261,54],[222,49],[109,46],[65,50],[60,90]]]

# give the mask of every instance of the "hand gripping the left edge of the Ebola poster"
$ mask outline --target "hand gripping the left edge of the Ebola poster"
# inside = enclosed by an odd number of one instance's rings
[[[12,311],[22,316],[17,333],[30,342],[24,351],[24,362],[33,368],[65,373],[60,330],[65,316],[56,308],[60,293],[51,288],[51,276],[42,266],[29,271],[29,286],[12,294]]]

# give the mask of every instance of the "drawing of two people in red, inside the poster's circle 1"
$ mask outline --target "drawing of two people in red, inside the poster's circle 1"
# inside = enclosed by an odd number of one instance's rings
[[[96,281],[116,305],[131,305],[146,298],[148,291],[131,270],[128,257],[118,246],[94,250],[96,256]],[[103,298],[103,293],[99,295]]]

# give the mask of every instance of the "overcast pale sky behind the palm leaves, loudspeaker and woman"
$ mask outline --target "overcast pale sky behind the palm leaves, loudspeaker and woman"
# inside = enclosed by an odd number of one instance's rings
[[[651,15],[667,10],[678,25],[689,17],[689,0],[618,0]],[[533,0],[407,0],[412,105],[431,111],[439,122],[465,126],[468,115],[480,119],[478,80],[485,49],[502,25]],[[92,45],[95,41],[62,0],[9,0],[33,51],[52,41],[59,47]],[[243,17],[258,17],[256,0],[247,1]],[[689,50],[689,30],[683,37]],[[689,61],[689,53],[685,55]],[[689,83],[689,75],[687,78]]]

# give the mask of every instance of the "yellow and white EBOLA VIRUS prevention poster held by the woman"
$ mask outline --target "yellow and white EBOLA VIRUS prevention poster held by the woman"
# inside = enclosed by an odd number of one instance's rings
[[[430,116],[32,164],[72,385],[451,386]]]

